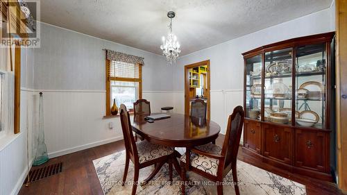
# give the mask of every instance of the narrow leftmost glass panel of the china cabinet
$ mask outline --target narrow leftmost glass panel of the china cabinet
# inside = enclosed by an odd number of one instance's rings
[[[246,59],[246,117],[260,120],[262,54]]]

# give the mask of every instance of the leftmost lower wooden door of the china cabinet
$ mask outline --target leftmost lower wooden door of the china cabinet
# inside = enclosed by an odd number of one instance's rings
[[[248,119],[244,120],[244,146],[256,153],[260,153],[260,129],[260,122]]]

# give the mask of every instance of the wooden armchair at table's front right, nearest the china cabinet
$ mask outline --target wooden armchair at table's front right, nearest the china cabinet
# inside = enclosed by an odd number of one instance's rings
[[[232,180],[235,186],[235,193],[239,195],[239,186],[237,183],[237,152],[239,151],[239,142],[244,124],[244,110],[242,106],[237,106],[232,115],[229,116],[226,137],[223,147],[216,144],[205,144],[196,146],[194,149],[187,150],[180,158],[182,170],[182,192],[185,194],[185,172],[186,162],[189,163],[189,170],[208,178],[217,183],[217,194],[223,194],[223,178],[232,170]],[[186,158],[190,158],[186,160]]]

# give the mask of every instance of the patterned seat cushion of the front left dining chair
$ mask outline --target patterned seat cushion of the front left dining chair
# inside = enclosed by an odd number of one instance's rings
[[[160,146],[157,144],[151,144],[147,141],[136,142],[137,153],[139,154],[139,163],[149,162],[156,158],[160,158],[165,155],[171,155],[175,149],[167,146]]]

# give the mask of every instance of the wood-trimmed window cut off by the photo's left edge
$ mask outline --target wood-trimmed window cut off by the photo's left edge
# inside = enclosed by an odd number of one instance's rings
[[[11,43],[8,47],[0,49],[0,71],[3,73],[1,76],[0,102],[1,134],[4,134],[4,130],[12,128],[16,134],[20,131],[20,44],[25,43],[21,40],[25,40],[28,35],[23,20],[24,13],[21,12],[17,1],[0,0],[0,12],[0,41],[2,43],[5,37],[9,37]],[[20,14],[18,15],[18,13]],[[14,116],[14,118],[10,116]],[[12,124],[13,127],[10,126]]]

